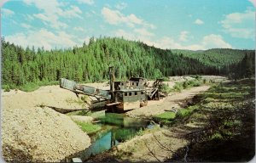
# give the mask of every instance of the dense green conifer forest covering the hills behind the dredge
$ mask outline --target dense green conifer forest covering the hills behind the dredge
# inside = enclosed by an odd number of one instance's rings
[[[108,66],[116,76],[157,78],[193,74],[227,75],[246,53],[254,51],[212,49],[200,53],[148,47],[123,38],[90,38],[83,47],[69,49],[21,48],[2,39],[2,84],[53,82],[65,77],[77,82],[108,79]],[[228,68],[227,68],[228,67]]]

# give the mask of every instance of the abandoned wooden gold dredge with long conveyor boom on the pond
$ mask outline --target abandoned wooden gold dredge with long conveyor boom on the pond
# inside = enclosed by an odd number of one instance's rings
[[[103,103],[107,109],[126,111],[138,109],[148,104],[148,99],[160,99],[160,86],[162,79],[157,79],[153,87],[148,87],[148,81],[142,77],[131,77],[129,81],[115,82],[114,68],[110,66],[109,90],[89,87],[61,78],[60,87],[73,93],[95,97],[96,103]]]

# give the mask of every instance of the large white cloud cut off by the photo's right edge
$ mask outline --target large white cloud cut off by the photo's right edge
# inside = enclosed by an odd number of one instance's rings
[[[245,13],[227,14],[220,23],[231,37],[254,38],[254,21],[255,13],[247,10]]]

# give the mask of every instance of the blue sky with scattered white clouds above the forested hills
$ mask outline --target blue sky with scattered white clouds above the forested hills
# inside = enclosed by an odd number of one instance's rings
[[[1,8],[1,35],[22,47],[124,37],[157,48],[255,47],[254,0],[23,0]]]

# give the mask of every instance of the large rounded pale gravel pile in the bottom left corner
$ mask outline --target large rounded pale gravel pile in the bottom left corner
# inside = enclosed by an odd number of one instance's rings
[[[90,146],[70,117],[34,107],[2,111],[2,152],[6,161],[59,162]]]

